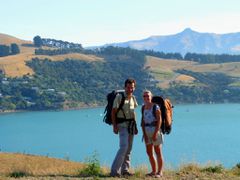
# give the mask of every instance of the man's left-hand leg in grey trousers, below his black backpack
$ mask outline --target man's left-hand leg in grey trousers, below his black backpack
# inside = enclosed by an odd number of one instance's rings
[[[126,153],[128,151],[128,129],[119,127],[119,150],[115,156],[111,167],[111,175],[118,176],[120,175],[120,169],[124,162]]]

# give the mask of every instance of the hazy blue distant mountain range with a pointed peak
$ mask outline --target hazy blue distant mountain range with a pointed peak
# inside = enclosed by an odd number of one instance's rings
[[[186,28],[184,31],[166,36],[151,36],[142,40],[106,44],[104,46],[130,47],[138,50],[160,52],[187,52],[203,54],[240,54],[240,32],[215,34],[200,33]]]

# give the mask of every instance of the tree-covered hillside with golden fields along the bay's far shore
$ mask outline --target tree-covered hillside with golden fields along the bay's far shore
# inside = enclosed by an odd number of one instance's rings
[[[0,57],[0,112],[104,105],[106,94],[128,77],[137,81],[140,103],[143,89],[174,103],[240,102],[240,62],[228,56],[226,63],[207,64],[113,46],[75,53],[45,46],[36,55],[32,42],[1,38],[18,43],[20,53]]]

